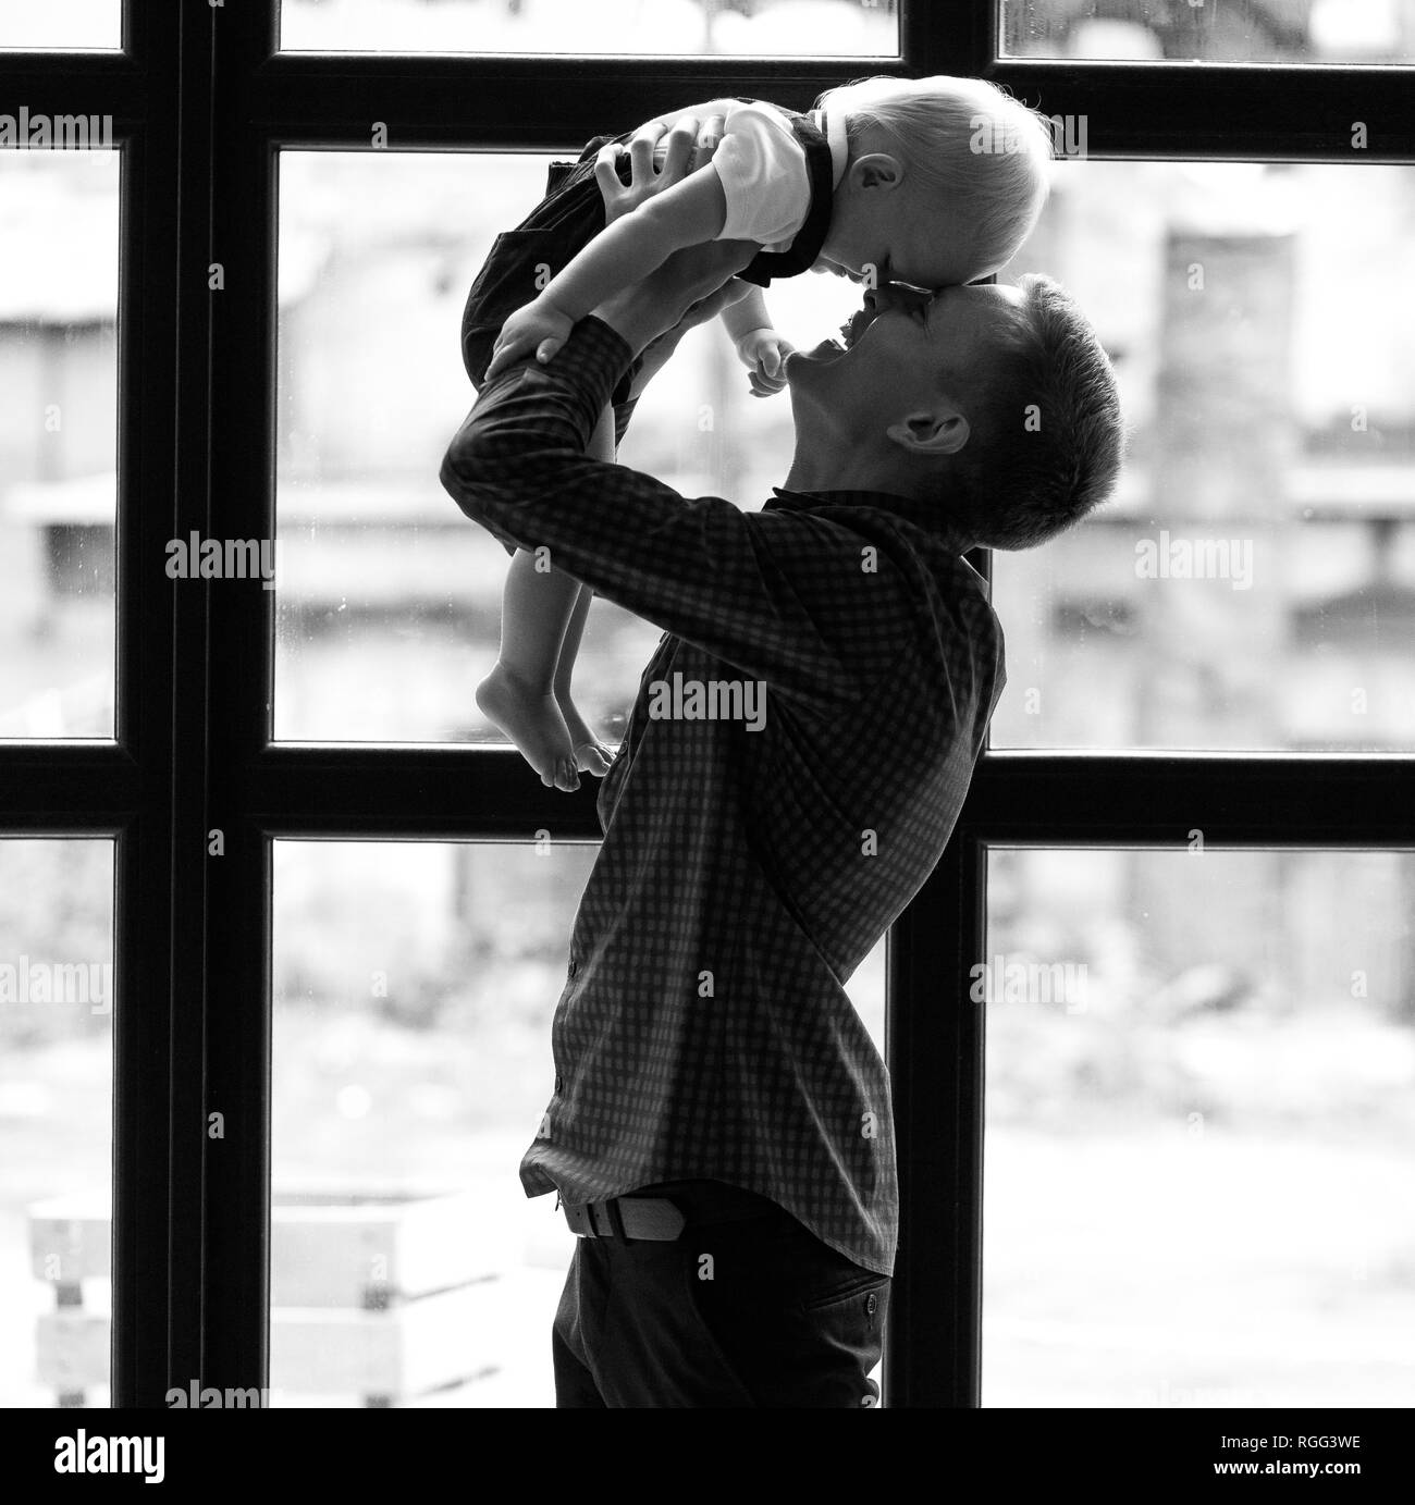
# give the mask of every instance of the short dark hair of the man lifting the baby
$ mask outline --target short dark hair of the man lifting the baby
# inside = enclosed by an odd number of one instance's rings
[[[1079,522],[1111,494],[1124,448],[1115,373],[1090,321],[1049,277],[1018,286],[1016,334],[974,388],[944,498],[994,549],[1030,549]]]

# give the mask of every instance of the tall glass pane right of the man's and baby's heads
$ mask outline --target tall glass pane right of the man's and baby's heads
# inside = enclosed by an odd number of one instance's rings
[[[1415,748],[1412,217],[1412,167],[1058,167],[1007,275],[1079,298],[1129,455],[992,555],[994,746]]]

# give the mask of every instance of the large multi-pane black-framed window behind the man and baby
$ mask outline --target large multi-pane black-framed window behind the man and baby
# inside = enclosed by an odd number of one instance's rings
[[[500,1404],[474,1392],[543,1386],[510,1373],[501,1338],[477,1373],[434,1379],[411,1329],[384,1320],[431,1290],[426,1266],[414,1279],[399,1263],[409,1228],[488,1234],[458,1198],[468,1160],[506,1193],[548,1064],[530,1020],[598,838],[593,787],[542,789],[474,713],[501,560],[435,477],[470,396],[456,324],[485,236],[548,155],[708,95],[804,107],[863,74],[954,72],[1039,105],[1073,160],[1024,259],[1075,287],[1135,420],[1112,509],[1036,554],[977,560],[1009,635],[1006,698],[948,852],[858,975],[888,1041],[903,1189],[887,1404],[1057,1404],[1081,1362],[1076,1312],[1105,1267],[1069,1248],[1034,1272],[1018,1254],[1028,1178],[1049,1174],[1028,1138],[1045,1114],[1094,1109],[1103,1160],[1109,1099],[1165,1102],[1176,1135],[1203,1115],[1203,1147],[1182,1150],[1213,1151],[1230,1181],[1280,1166],[1213,1117],[1266,1040],[1349,1130],[1334,1175],[1407,1154],[1389,1105],[1415,849],[1409,5],[247,0],[173,24],[128,0],[120,15],[0,6],[0,266],[42,271],[0,275],[0,888],[23,906],[0,963],[41,948],[111,963],[111,1013],[47,1019],[68,1055],[41,1061],[26,1037],[11,1061],[35,1070],[8,1061],[0,1100],[14,1124],[80,1078],[93,1102],[113,1093],[107,1183],[93,1141],[11,1186],[27,1212],[5,1225],[17,1273],[0,1300],[36,1341],[83,1312],[101,1371],[104,1293],[62,1305],[68,1282],[26,1273],[23,1240],[60,1216],[44,1213],[54,1198],[110,1193],[110,1385],[95,1376],[86,1404],[163,1407],[193,1385],[358,1404],[453,1379],[455,1404]],[[619,27],[614,45],[581,15]],[[831,328],[843,292],[801,289],[789,318]],[[712,333],[632,458],[750,506],[780,476],[784,403],[733,408]],[[53,432],[35,406],[48,390]],[[694,399],[723,421],[668,411]],[[272,578],[169,569],[194,534],[268,542]],[[608,610],[593,631],[586,698],[614,737],[652,634]],[[1132,879],[1186,895],[1203,954],[1176,960],[1164,905],[1126,909]],[[1084,894],[1085,951],[1063,923]],[[1362,894],[1391,917],[1379,933]],[[1281,936],[1305,993],[1274,1019]],[[1085,963],[1114,984],[1111,1013],[1009,1001],[1006,977],[1001,999],[974,1002],[994,956],[1063,981]],[[1115,981],[1102,957],[1126,956]],[[1380,1046],[1379,1082],[1320,1049],[1347,1023]],[[1118,1087],[1117,1035],[1149,1052]],[[1048,1060],[1064,1070],[1045,1112],[1019,1106]],[[485,1102],[461,1096],[464,1076]],[[396,1109],[393,1081],[409,1088]],[[1269,1094],[1245,1111],[1257,1127],[1239,1138],[1293,1109]],[[1057,1195],[1099,1196],[1072,1169]],[[1356,1251],[1314,1240],[1290,1273],[1331,1294],[1364,1260],[1338,1306],[1379,1323],[1407,1314],[1407,1282],[1367,1234]],[[495,1275],[516,1288],[506,1309],[542,1321],[558,1254],[530,1236],[519,1263],[488,1237],[476,1249],[450,1320],[479,1321]],[[1233,1300],[1260,1257],[1249,1245],[1218,1272]],[[286,1318],[312,1296],[357,1308],[390,1364],[340,1395],[310,1388],[325,1329]],[[1153,1297],[1140,1278],[1127,1293],[1141,1315]],[[1049,1368],[1030,1362],[1039,1342]],[[1112,1382],[1097,1404],[1165,1404],[1141,1367]],[[1400,1380],[1361,1383],[1410,1401]],[[1317,1379],[1302,1394],[1331,1400]]]

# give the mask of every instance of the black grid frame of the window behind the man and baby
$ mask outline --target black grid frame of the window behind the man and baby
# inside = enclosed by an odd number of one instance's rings
[[[641,117],[708,93],[807,107],[866,72],[951,72],[1085,114],[1094,158],[1415,163],[1415,68],[1006,59],[995,0],[902,9],[894,62],[280,54],[275,0],[123,0],[122,53],[0,53],[0,96],[111,114],[123,152],[117,736],[0,745],[0,834],[116,841],[114,1406],[268,1380],[271,843],[599,835],[592,786],[543,790],[509,749],[271,743],[271,593],[166,576],[166,542],[193,530],[274,537],[280,149],[372,149],[373,120],[390,150],[560,149],[625,119],[626,99]],[[1182,849],[1194,828],[1207,849],[1415,847],[1412,769],[1403,754],[983,754],[890,933],[903,1227],[887,1404],[980,1403],[984,1022],[968,989],[989,847]]]

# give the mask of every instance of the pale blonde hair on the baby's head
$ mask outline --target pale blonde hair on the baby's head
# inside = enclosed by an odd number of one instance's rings
[[[816,108],[844,111],[851,158],[860,134],[879,126],[905,166],[947,197],[968,235],[969,275],[986,277],[1016,254],[1051,187],[1046,119],[983,78],[860,78],[826,89]]]

